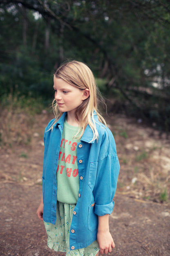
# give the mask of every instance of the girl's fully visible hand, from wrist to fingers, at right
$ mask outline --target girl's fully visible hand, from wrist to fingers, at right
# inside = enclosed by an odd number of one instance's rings
[[[98,231],[97,241],[100,248],[100,254],[107,254],[115,247],[114,240],[109,231]]]

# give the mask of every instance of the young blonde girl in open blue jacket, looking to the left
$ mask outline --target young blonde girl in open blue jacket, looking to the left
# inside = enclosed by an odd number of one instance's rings
[[[98,112],[92,71],[82,62],[63,64],[54,74],[54,91],[37,214],[51,249],[71,256],[107,254],[115,247],[109,214],[120,166],[114,137]]]

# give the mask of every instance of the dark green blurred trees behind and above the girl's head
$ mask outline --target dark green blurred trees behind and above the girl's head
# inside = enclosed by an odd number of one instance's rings
[[[117,111],[168,133],[168,0],[2,0],[0,26],[0,97],[19,91],[51,100],[54,70],[77,59],[116,98]]]

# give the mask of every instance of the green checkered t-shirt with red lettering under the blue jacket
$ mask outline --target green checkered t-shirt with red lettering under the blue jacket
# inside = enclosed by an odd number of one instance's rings
[[[65,119],[56,171],[57,200],[62,203],[78,200],[77,143],[80,139],[74,138],[77,131],[78,127],[69,125]]]

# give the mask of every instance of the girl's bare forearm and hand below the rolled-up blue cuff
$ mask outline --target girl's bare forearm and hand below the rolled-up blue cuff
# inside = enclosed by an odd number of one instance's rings
[[[115,247],[112,235],[109,231],[109,214],[98,216],[97,241],[100,247],[100,254],[107,254]]]

